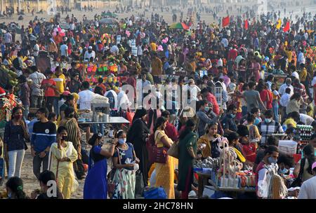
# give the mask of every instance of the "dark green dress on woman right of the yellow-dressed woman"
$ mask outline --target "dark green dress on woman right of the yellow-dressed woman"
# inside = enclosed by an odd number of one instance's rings
[[[190,146],[192,146],[195,153],[197,153],[197,135],[195,132],[189,132],[185,138],[180,139],[179,142],[178,191],[185,191],[185,186],[187,184],[190,184],[188,188],[189,191],[191,191],[194,159],[187,151]]]

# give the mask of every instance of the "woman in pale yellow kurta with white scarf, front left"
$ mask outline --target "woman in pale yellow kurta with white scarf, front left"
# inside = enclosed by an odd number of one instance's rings
[[[67,129],[60,126],[57,130],[57,142],[51,145],[49,151],[48,168],[54,172],[58,188],[65,199],[70,199],[72,192],[77,189],[78,183],[74,176],[73,163],[78,159],[78,153],[72,142],[67,142]]]

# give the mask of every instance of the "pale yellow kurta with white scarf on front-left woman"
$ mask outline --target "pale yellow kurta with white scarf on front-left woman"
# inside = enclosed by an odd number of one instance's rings
[[[67,146],[61,147],[61,149],[58,149],[57,143],[51,145],[49,168],[56,175],[58,165],[58,174],[56,177],[58,188],[65,199],[70,199],[72,192],[75,191],[78,186],[73,167],[74,161],[78,158],[78,153],[76,149],[74,149],[72,142],[66,142],[66,144]],[[62,158],[70,158],[71,161],[63,161],[58,164],[58,160]]]

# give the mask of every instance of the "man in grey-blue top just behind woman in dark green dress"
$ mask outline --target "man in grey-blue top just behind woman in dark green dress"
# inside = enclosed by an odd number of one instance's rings
[[[198,118],[198,123],[197,123],[197,130],[199,133],[199,137],[205,134],[205,128],[206,124],[208,123],[216,123],[218,120],[218,117],[216,118],[209,118],[207,114],[209,113],[209,104],[206,102],[206,100],[201,100],[197,102],[197,118]]]

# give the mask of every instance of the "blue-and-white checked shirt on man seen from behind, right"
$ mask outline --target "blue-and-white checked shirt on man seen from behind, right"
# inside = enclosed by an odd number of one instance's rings
[[[261,135],[261,145],[265,145],[267,143],[268,137],[270,135],[284,133],[282,125],[280,125],[276,121],[272,121],[271,123],[265,123],[265,121],[262,121],[261,123],[259,123],[258,129]]]

